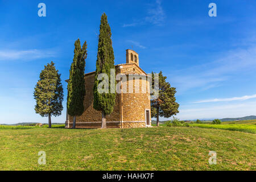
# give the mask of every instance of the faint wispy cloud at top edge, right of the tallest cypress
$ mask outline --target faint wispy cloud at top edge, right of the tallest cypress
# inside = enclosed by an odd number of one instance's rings
[[[156,0],[154,4],[150,5],[150,8],[147,10],[146,17],[138,20],[133,23],[124,23],[122,27],[135,27],[145,23],[155,24],[156,26],[162,26],[164,20],[166,18],[166,14],[164,13],[162,7],[162,1]]]

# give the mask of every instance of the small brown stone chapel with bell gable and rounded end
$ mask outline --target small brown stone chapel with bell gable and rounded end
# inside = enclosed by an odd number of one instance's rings
[[[127,79],[119,83],[121,86],[115,98],[114,111],[112,114],[106,115],[107,127],[129,128],[151,126],[150,92],[146,89],[149,88],[149,82],[147,79],[139,78],[137,79],[137,84],[135,84],[136,80],[134,81],[134,78],[129,79],[129,76],[138,74],[147,78],[146,72],[139,67],[139,55],[137,52],[130,49],[126,50],[126,64],[115,65],[115,74],[117,75],[118,73],[125,75]],[[86,90],[84,100],[85,110],[81,116],[76,118],[76,128],[101,127],[101,111],[93,109],[94,77],[95,72],[86,73],[84,76]],[[132,85],[130,86],[133,89],[132,93],[129,92],[129,85]],[[124,92],[125,86],[127,92]],[[72,122],[73,117],[67,114],[65,127],[72,128]]]

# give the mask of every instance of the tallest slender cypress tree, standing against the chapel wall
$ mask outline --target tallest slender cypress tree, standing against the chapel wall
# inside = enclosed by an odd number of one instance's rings
[[[110,69],[115,69],[114,65],[114,51],[112,47],[111,40],[111,30],[108,23],[108,18],[106,14],[101,16],[100,24],[100,35],[98,36],[98,53],[96,61],[96,73],[94,80],[94,100],[93,107],[96,110],[100,110],[102,113],[101,119],[101,128],[106,128],[106,115],[111,114],[115,105],[115,84],[110,84]],[[106,73],[109,77],[109,92],[108,93],[99,93],[98,85],[102,80],[98,80],[98,75],[100,73]],[[111,93],[110,90],[114,90],[114,93]]]

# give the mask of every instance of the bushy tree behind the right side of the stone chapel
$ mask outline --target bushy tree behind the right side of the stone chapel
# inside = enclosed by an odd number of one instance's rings
[[[159,126],[159,116],[169,118],[179,113],[179,104],[176,102],[176,88],[171,87],[163,76],[162,71],[159,73],[159,97],[151,100],[151,117],[156,118],[156,126]],[[154,86],[154,74],[152,72],[152,85]]]

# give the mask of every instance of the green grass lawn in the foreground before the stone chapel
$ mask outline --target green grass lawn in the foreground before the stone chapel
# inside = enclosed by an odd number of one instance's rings
[[[0,130],[0,170],[255,170],[256,135],[199,127]],[[46,165],[38,152],[46,152]],[[209,151],[217,164],[208,164]]]

